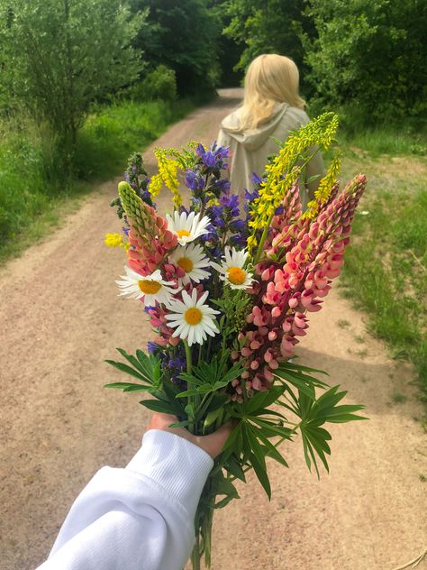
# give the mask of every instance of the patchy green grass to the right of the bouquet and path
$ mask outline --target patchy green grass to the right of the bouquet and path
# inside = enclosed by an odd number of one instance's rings
[[[427,402],[427,161],[372,158],[356,148],[343,170],[344,179],[356,171],[368,175],[346,252],[343,294],[367,311],[370,332],[396,359],[413,363]]]

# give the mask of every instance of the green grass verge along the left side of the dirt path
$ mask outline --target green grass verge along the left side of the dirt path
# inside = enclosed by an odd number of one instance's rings
[[[87,117],[78,133],[75,175],[65,179],[50,133],[24,124],[0,125],[0,263],[50,232],[60,212],[97,181],[124,170],[131,152],[142,150],[195,104],[121,102]]]

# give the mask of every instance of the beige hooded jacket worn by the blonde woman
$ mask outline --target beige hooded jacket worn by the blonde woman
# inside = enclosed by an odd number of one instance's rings
[[[309,118],[303,110],[280,103],[277,104],[268,123],[248,133],[236,133],[234,129],[240,125],[240,113],[241,108],[238,108],[225,117],[218,134],[217,144],[230,146],[232,190],[242,196],[244,188],[249,190],[253,188],[252,173],[256,172],[262,176],[268,155],[277,154],[278,146],[274,139],[286,141],[290,131],[307,124]],[[304,209],[324,175],[323,158],[320,152],[314,155],[306,169],[306,179],[315,175],[318,175],[317,179],[306,186],[303,184],[300,189]]]

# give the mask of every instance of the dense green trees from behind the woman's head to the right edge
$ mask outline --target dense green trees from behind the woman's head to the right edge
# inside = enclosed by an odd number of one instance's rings
[[[420,0],[227,0],[225,33],[245,68],[260,53],[290,56],[304,96],[350,107],[365,124],[422,120],[427,108],[427,5]],[[425,119],[424,119],[425,124]]]

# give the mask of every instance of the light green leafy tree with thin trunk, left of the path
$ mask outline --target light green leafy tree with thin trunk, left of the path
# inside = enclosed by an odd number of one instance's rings
[[[121,0],[0,0],[0,22],[4,98],[48,122],[70,156],[90,104],[138,75],[141,15]]]

